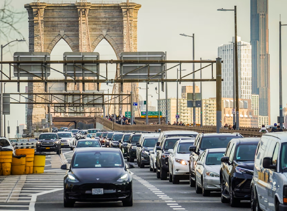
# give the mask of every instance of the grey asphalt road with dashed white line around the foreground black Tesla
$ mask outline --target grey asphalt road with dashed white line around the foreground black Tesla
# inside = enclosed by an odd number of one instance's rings
[[[62,150],[64,159],[60,162],[70,162],[72,151],[68,149]],[[55,177],[55,188],[63,185],[62,177],[65,171],[55,167],[54,160],[59,160],[59,156],[51,153],[47,158],[45,170]],[[57,162],[56,162],[57,163]],[[50,165],[51,164],[51,165]],[[54,165],[54,166],[53,166]],[[136,163],[135,163],[136,165]],[[156,173],[150,172],[148,166],[144,169],[137,167],[131,169],[133,172],[133,206],[123,207],[121,202],[102,202],[102,203],[79,203],[74,208],[63,207],[63,190],[39,195],[36,200],[36,211],[51,210],[136,210],[136,211],[224,211],[224,210],[250,210],[249,202],[241,202],[240,207],[231,208],[229,204],[222,204],[220,201],[220,193],[212,193],[210,197],[203,197],[201,194],[195,193],[195,188],[189,187],[188,181],[180,184],[172,184],[168,180],[160,180],[156,178]],[[53,180],[51,180],[53,181]],[[49,192],[49,191],[48,191]],[[1,209],[1,208],[0,208]]]

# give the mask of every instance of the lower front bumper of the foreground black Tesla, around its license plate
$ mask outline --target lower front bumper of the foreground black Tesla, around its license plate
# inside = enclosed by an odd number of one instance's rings
[[[92,188],[103,188],[104,194],[92,195]],[[132,183],[109,184],[73,184],[66,182],[64,184],[64,195],[66,199],[77,202],[109,202],[121,201],[130,197],[132,194]]]

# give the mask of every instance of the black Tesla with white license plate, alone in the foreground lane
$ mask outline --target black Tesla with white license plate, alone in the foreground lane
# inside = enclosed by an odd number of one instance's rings
[[[119,149],[87,147],[73,154],[70,168],[64,177],[64,207],[75,202],[122,201],[133,205],[132,178]]]

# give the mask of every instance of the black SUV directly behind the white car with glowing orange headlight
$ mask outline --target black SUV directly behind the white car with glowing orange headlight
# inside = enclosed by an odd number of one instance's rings
[[[166,137],[163,139],[159,146],[156,147],[156,177],[160,178],[161,180],[167,179],[168,173],[168,157],[169,157],[169,149],[174,147],[174,144],[178,140],[186,140],[192,139],[194,140],[193,136],[172,136]]]

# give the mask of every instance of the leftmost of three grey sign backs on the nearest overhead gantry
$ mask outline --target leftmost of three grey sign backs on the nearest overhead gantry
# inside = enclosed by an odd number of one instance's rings
[[[47,52],[15,52],[14,61],[47,61],[46,66],[42,64],[14,64],[14,66],[26,70],[27,72],[14,67],[13,72],[16,77],[33,77],[30,73],[40,77],[50,75],[50,53]]]

